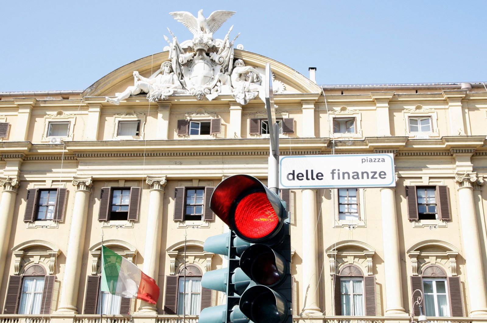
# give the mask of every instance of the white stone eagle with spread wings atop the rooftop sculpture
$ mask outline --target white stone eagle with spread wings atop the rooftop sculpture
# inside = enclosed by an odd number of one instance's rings
[[[182,22],[194,35],[213,34],[220,28],[226,19],[230,18],[235,11],[216,10],[208,18],[203,16],[203,9],[198,11],[198,18],[187,11],[170,12],[169,15],[179,22]]]

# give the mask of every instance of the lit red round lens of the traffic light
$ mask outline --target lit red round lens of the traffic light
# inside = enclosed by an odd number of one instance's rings
[[[276,211],[264,192],[245,196],[235,209],[236,229],[248,238],[265,237],[272,233],[278,224]]]

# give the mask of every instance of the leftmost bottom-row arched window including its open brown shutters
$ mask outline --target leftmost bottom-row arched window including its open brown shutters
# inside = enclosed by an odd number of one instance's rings
[[[39,264],[10,276],[3,314],[50,314],[55,281]]]

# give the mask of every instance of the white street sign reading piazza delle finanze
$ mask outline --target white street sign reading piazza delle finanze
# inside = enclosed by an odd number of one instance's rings
[[[279,188],[394,187],[392,154],[282,156]]]

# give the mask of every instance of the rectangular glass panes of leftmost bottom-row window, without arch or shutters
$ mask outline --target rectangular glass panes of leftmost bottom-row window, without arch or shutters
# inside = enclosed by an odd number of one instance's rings
[[[44,276],[24,277],[20,295],[19,314],[40,314]]]

